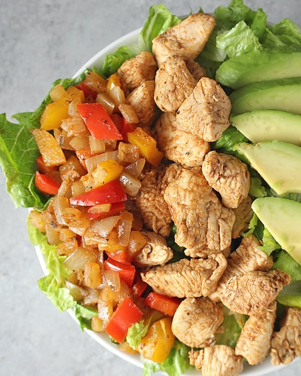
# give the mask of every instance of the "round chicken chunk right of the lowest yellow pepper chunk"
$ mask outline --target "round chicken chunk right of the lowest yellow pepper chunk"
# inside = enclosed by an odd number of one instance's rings
[[[210,299],[186,298],[173,317],[172,331],[187,346],[210,346],[223,319],[222,308]]]

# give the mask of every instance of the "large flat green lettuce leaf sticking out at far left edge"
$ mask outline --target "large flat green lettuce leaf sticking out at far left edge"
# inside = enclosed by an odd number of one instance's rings
[[[0,163],[6,175],[6,187],[16,208],[43,206],[46,197],[35,186],[39,156],[36,140],[30,132],[31,113],[15,115],[20,124],[0,115]]]

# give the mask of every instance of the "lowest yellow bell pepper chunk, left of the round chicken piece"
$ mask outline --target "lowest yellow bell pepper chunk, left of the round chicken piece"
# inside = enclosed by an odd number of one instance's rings
[[[144,358],[163,363],[171,352],[174,342],[172,317],[165,317],[150,325],[137,350]]]

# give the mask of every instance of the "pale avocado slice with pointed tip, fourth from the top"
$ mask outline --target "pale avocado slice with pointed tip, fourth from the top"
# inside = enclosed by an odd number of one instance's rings
[[[301,147],[283,141],[240,142],[233,150],[243,154],[276,192],[301,193]]]

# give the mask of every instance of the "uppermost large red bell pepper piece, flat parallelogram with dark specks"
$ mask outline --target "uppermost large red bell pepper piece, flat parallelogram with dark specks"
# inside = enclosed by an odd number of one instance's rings
[[[77,105],[77,111],[94,138],[122,140],[121,133],[101,103],[81,103]]]

